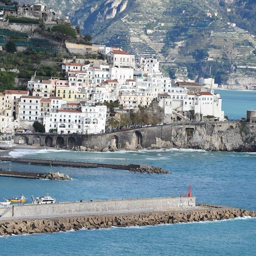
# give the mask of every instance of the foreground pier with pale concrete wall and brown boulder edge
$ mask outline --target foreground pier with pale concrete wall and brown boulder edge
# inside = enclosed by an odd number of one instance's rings
[[[256,217],[256,212],[227,206],[196,205],[195,197],[167,197],[13,205],[0,208],[0,216],[0,235],[3,236],[81,228],[214,221]]]

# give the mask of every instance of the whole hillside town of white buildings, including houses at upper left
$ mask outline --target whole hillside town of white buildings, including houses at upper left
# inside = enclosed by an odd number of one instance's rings
[[[58,51],[49,41],[46,44],[46,40],[32,38],[39,26],[36,20],[43,19],[45,26],[49,27],[60,23],[51,8],[41,4],[4,7],[0,13],[3,37],[11,33],[10,29],[16,30],[19,37],[24,36],[24,32],[31,34],[29,41],[18,42],[17,51],[26,50],[28,43],[34,49],[34,42],[44,45],[41,51]],[[20,20],[10,22],[10,15],[33,19],[34,24],[24,24]],[[20,24],[22,27],[19,27]],[[2,45],[5,44],[6,40],[3,40]],[[199,83],[171,79],[160,71],[156,56],[138,57],[115,46],[67,41],[65,48],[72,56],[58,63],[65,78],[40,79],[35,71],[27,81],[26,90],[4,90],[0,93],[2,134],[34,132],[34,122],[43,125],[46,133],[110,132],[121,129],[118,125],[121,114],[146,108],[153,101],[164,113],[160,123],[191,120],[191,116],[197,121],[202,121],[204,117],[215,121],[226,120],[221,108],[221,96],[214,93],[218,87],[214,78],[200,78]],[[81,57],[88,53],[100,55],[101,58],[88,60]],[[111,107],[113,102],[117,102],[118,106]],[[113,125],[113,122],[117,124]]]

